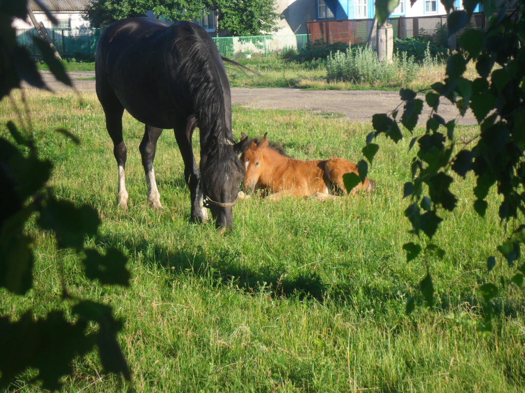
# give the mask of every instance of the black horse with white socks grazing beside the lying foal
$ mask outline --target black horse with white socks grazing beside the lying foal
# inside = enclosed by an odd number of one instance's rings
[[[217,227],[232,226],[244,168],[234,151],[229,82],[207,32],[186,21],[168,25],[152,18],[119,20],[100,37],[96,85],[119,168],[119,205],[128,206],[122,139],[126,109],[145,124],[140,152],[150,204],[162,208],[153,160],[162,129],[173,128],[190,188],[192,220],[207,220],[206,206]],[[200,130],[200,175],[192,148],[195,127]]]

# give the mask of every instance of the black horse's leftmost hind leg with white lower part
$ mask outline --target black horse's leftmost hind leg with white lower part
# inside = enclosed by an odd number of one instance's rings
[[[119,168],[119,191],[117,202],[121,208],[128,209],[128,191],[126,190],[125,182],[125,167],[128,157],[128,149],[122,138],[122,114],[124,113],[124,107],[120,105],[118,101],[113,105],[103,104],[102,107],[106,114],[106,127],[108,129],[108,134],[113,141],[113,155],[117,160]]]

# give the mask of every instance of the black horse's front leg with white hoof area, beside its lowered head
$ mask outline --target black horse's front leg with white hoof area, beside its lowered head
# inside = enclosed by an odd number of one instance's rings
[[[175,129],[175,139],[184,161],[184,180],[190,189],[191,219],[195,222],[204,222],[208,221],[208,211],[203,206],[201,176],[193,156],[192,134],[193,127],[188,124]]]

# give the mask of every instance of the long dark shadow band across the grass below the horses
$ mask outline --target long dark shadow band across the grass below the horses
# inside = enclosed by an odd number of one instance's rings
[[[259,268],[245,266],[240,255],[224,250],[218,257],[208,258],[203,250],[197,253],[171,252],[145,239],[137,242],[130,239],[99,236],[96,243],[100,246],[124,247],[131,254],[143,254],[143,263],[156,269],[169,272],[170,275],[194,275],[207,278],[213,286],[236,286],[247,294],[266,291],[274,297],[296,297],[300,300],[316,299],[319,302],[330,300],[345,307],[386,313],[392,309],[392,303],[402,308],[406,299],[414,295],[420,307],[426,307],[425,300],[417,290],[415,283],[411,291],[405,286],[359,285],[355,282],[335,282],[327,284],[315,271],[289,272],[284,265],[264,265]],[[409,293],[410,292],[410,293]],[[492,303],[495,315],[516,318],[520,315],[523,302],[495,301]],[[454,292],[435,294],[434,310],[449,312],[462,308],[484,316],[484,303],[472,292]]]

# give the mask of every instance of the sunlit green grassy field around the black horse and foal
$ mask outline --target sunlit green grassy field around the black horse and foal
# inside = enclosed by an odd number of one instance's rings
[[[435,243],[447,250],[428,263],[436,307],[408,296],[425,275],[420,258],[406,262],[410,241],[403,216],[403,183],[409,180],[408,140],[383,143],[369,176],[370,197],[317,202],[260,198],[240,201],[235,229],[220,235],[212,224],[188,222],[189,192],[175,139],[168,130],[155,160],[164,211],[146,203],[138,146],[143,127],[128,114],[130,209],[116,206],[117,168],[102,110],[94,94],[79,103],[69,93],[30,91],[34,132],[41,155],[55,163],[56,193],[88,202],[102,218],[91,247],[114,246],[128,257],[129,288],[85,279],[74,254],[59,254],[53,238],[35,237],[35,286],[17,297],[0,289],[1,314],[14,318],[33,308],[44,315],[63,309],[58,265],[66,286],[80,298],[111,304],[124,321],[120,342],[139,392],[523,392],[525,318],[520,292],[509,287],[495,333],[476,332],[476,288],[506,275],[498,259],[485,260],[504,232],[497,210],[486,219],[472,212],[469,188],[456,185],[458,208],[447,214]],[[234,132],[268,132],[301,159],[361,158],[370,123],[348,123],[331,114],[234,108]],[[0,121],[15,118],[4,100]],[[66,127],[76,146],[56,127]],[[459,131],[465,137],[472,130]],[[7,135],[5,126],[0,131]],[[198,145],[198,144],[196,144]],[[493,196],[495,198],[495,196]],[[67,308],[66,308],[67,309]],[[119,378],[102,374],[96,354],[74,364],[67,392],[125,391]],[[37,392],[28,372],[10,392]]]

